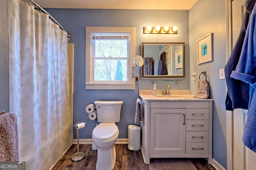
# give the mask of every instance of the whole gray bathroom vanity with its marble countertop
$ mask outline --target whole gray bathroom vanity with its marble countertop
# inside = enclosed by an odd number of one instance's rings
[[[140,93],[140,97],[144,103],[141,150],[146,164],[150,158],[207,158],[212,164],[212,99],[188,94]]]

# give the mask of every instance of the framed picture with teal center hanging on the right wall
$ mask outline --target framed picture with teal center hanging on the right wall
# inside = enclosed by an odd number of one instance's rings
[[[212,61],[212,34],[202,37],[197,40],[197,63],[202,64]]]

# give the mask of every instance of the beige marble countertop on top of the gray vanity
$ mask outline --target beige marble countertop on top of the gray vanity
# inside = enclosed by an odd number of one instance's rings
[[[157,96],[152,95],[153,90],[140,90],[140,97],[144,100],[150,101],[213,101],[213,99],[200,99],[194,98],[194,95],[190,95],[190,90],[170,90],[169,95],[161,95],[162,90],[157,90]]]

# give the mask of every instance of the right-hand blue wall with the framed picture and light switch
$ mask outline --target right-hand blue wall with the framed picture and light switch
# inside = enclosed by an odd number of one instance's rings
[[[226,80],[219,79],[219,69],[226,65],[226,15],[224,0],[198,0],[189,10],[190,74],[206,71],[213,103],[213,158],[224,168],[226,152]],[[213,33],[213,61],[197,64],[196,41]],[[202,76],[201,76],[202,78]],[[191,94],[197,92],[197,81],[190,79]]]

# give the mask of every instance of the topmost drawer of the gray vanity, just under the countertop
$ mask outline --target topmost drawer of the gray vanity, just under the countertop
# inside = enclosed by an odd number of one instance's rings
[[[186,109],[186,119],[209,119],[209,109]]]

